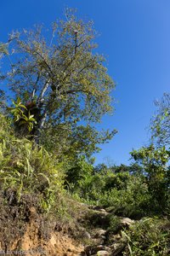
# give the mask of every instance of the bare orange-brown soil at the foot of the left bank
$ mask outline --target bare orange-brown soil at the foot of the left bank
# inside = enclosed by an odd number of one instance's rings
[[[32,209],[33,210],[33,209]],[[23,236],[10,242],[10,245],[5,245],[0,241],[0,253],[3,255],[27,255],[27,256],[73,256],[81,255],[83,247],[78,245],[68,235],[62,231],[52,232],[48,234],[48,238],[44,239],[39,234],[39,224],[36,220],[31,219],[31,222],[26,224],[26,231]],[[5,251],[6,250],[6,251]]]

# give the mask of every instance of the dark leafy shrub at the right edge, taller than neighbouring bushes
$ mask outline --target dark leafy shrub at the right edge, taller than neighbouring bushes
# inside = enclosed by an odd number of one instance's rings
[[[169,168],[167,166],[170,152],[165,146],[155,148],[150,145],[139,150],[133,150],[131,154],[144,170],[143,175],[152,196],[153,207],[165,209],[170,184]]]

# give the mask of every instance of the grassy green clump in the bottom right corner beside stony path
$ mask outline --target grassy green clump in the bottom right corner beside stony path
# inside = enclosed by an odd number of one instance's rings
[[[157,218],[143,218],[133,224],[125,233],[127,256],[166,256],[169,255],[169,221]]]

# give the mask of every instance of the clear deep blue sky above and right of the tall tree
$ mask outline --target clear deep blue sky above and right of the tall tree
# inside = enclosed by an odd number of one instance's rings
[[[1,0],[0,41],[15,29],[49,26],[67,6],[94,20],[101,34],[99,53],[108,55],[109,73],[117,84],[116,112],[102,126],[119,132],[96,154],[96,163],[109,159],[127,164],[132,148],[148,140],[145,128],[155,110],[153,101],[170,88],[170,1]]]

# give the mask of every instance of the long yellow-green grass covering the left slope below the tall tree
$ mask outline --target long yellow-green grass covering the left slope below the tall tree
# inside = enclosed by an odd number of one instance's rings
[[[18,201],[23,194],[36,194],[42,208],[50,210],[63,190],[62,166],[44,148],[14,137],[8,120],[0,119],[0,188],[14,189]]]

